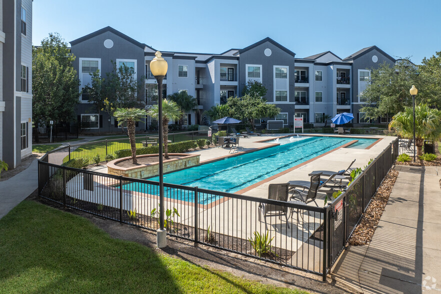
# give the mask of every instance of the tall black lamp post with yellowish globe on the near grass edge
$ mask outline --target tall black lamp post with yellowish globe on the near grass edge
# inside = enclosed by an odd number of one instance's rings
[[[156,245],[159,248],[167,245],[167,231],[164,229],[164,172],[162,166],[162,79],[167,73],[167,61],[156,51],[155,57],[150,61],[150,70],[157,81],[157,103],[158,103],[158,147],[159,147],[159,229],[156,231]]]

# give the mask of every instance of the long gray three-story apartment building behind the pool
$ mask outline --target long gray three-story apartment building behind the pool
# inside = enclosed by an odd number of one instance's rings
[[[90,83],[90,72],[111,70],[111,60],[133,68],[137,78],[145,76],[145,103],[157,92],[156,80],[149,62],[156,49],[140,43],[107,26],[70,42],[76,56],[74,67],[81,85]],[[248,80],[262,82],[267,88],[267,103],[276,104],[280,113],[264,120],[282,120],[290,126],[295,116],[305,122],[323,125],[324,116],[340,112],[354,113],[354,123],[367,123],[359,109],[364,104],[360,93],[369,83],[370,68],[396,60],[376,46],[363,48],[346,58],[330,51],[296,58],[295,53],[271,38],[264,38],[245,48],[233,48],[219,54],[171,52],[161,50],[168,63],[163,80],[163,94],[186,91],[196,98],[198,106],[184,115],[184,124],[207,124],[203,111],[223,104],[230,96],[240,96]],[[144,90],[144,89],[143,89]],[[91,131],[117,128],[113,117],[97,114],[96,107],[80,96],[78,120],[87,122]],[[378,118],[387,122],[387,118]],[[150,124],[146,118],[146,125]],[[256,121],[260,124],[260,120]],[[138,129],[145,128],[139,124]]]

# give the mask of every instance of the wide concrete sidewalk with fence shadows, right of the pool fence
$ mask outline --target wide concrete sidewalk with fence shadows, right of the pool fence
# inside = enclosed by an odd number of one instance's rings
[[[349,246],[332,278],[363,293],[441,291],[441,168],[396,165],[369,245]]]

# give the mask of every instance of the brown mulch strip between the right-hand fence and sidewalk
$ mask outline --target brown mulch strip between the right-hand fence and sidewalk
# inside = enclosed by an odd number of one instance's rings
[[[370,243],[397,176],[397,170],[389,170],[375,195],[372,197],[372,201],[367,206],[366,211],[363,213],[360,223],[355,227],[352,236],[349,238],[351,245],[365,245]]]

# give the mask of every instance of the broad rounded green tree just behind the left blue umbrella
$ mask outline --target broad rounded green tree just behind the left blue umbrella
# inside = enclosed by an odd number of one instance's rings
[[[256,95],[229,97],[226,105],[230,109],[231,117],[248,121],[253,129],[255,118],[274,117],[280,112],[275,104],[268,104],[264,98]]]

